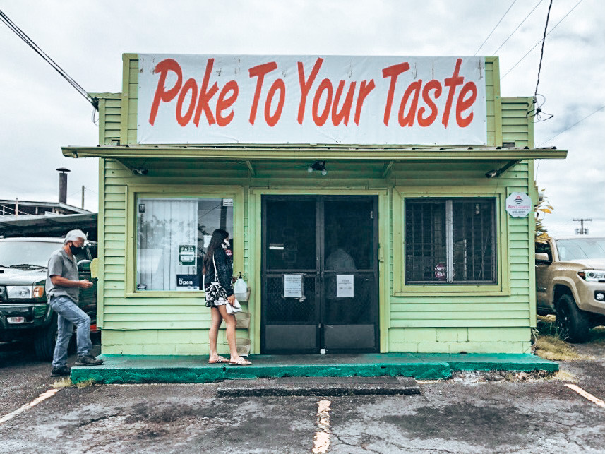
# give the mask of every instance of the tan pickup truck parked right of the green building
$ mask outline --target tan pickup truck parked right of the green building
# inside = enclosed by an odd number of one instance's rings
[[[556,314],[563,340],[585,342],[605,325],[605,238],[549,238],[536,242],[537,313]]]

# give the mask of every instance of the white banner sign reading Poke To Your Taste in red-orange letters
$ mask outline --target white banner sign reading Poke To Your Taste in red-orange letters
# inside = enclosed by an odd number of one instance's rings
[[[140,54],[138,143],[485,145],[483,57]]]

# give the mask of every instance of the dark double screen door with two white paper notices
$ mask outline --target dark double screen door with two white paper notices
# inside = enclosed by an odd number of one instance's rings
[[[263,353],[378,352],[377,207],[263,196]]]

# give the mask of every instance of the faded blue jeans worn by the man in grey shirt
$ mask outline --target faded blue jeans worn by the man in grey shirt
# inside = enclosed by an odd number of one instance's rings
[[[52,358],[53,367],[67,365],[67,345],[73,333],[73,325],[76,325],[76,343],[78,345],[78,357],[85,356],[92,348],[90,342],[90,317],[73,302],[73,299],[64,295],[51,297],[50,307],[59,316],[57,318],[57,336]]]

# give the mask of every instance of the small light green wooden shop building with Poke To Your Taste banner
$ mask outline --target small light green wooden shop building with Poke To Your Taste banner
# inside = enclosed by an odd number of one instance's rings
[[[452,88],[457,69],[450,83],[422,82],[424,60],[410,64],[407,90],[389,68],[399,68],[400,77],[408,72],[390,61],[378,66],[372,80],[361,76],[349,91],[363,93],[365,87],[371,100],[381,86],[387,93],[393,88],[395,102],[390,126],[390,107],[377,116],[378,136],[385,131],[387,140],[378,142],[370,134],[357,143],[347,141],[351,136],[333,137],[341,129],[361,129],[369,118],[363,97],[346,112],[343,86],[337,90],[330,78],[319,82],[324,66],[316,57],[299,62],[298,76],[295,63],[280,68],[281,83],[270,66],[229,66],[240,59],[227,56],[213,58],[214,66],[206,57],[188,56],[193,61],[188,78],[182,57],[124,54],[122,92],[96,94],[99,145],[63,148],[66,156],[100,162],[103,354],[208,354],[210,310],[201,261],[209,235],[219,227],[231,233],[234,272],[248,284],[237,337],[251,354],[529,352],[536,323],[534,217],[527,211],[515,215],[507,198],[519,193],[537,203],[534,160],[561,159],[567,152],[534,148],[532,97],[501,97],[496,57],[475,64],[479,90],[463,83]],[[275,60],[277,66],[287,63]],[[172,61],[179,61],[178,70]],[[456,64],[445,57],[432,61],[433,74],[436,64]],[[311,84],[313,62],[321,68]],[[372,59],[355,63],[373,70]],[[251,88],[239,79],[221,81],[233,68]],[[258,68],[268,68],[264,85]],[[348,82],[355,71],[343,79]],[[157,86],[143,80],[155,84],[158,77]],[[214,80],[219,83],[211,97]],[[305,83],[318,89],[309,90],[301,130],[292,121],[294,126],[272,136],[276,121],[285,124],[290,111],[292,119],[301,114],[303,102],[291,107],[283,94],[294,90],[299,97]],[[237,104],[254,102],[257,88],[256,112]],[[450,99],[458,102],[450,122],[479,121],[479,141],[460,143],[466,139],[450,136],[441,128],[447,126],[445,117],[426,127],[438,124],[436,140],[430,133],[422,138],[423,129],[414,136],[419,128],[414,109],[422,104],[428,113],[432,99],[441,116],[447,104],[439,102],[446,102],[448,88],[457,90]],[[340,117],[330,108],[339,93]],[[206,105],[203,97],[210,98]],[[468,106],[475,98],[472,117]],[[325,112],[332,112],[331,119]],[[243,119],[239,129],[229,129],[234,124],[229,117]],[[419,113],[417,123],[426,124],[429,117]],[[314,121],[311,129],[304,127],[307,121]],[[160,124],[169,126],[154,136],[150,127]],[[326,124],[330,129],[324,134]],[[181,129],[191,133],[181,135]],[[214,134],[209,140],[206,131]],[[283,140],[289,131],[292,140]],[[412,131],[409,142],[402,143],[400,131]],[[316,140],[322,134],[330,137]],[[219,342],[219,353],[227,352],[222,333]]]

